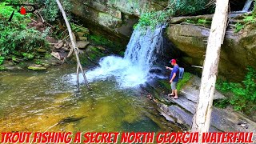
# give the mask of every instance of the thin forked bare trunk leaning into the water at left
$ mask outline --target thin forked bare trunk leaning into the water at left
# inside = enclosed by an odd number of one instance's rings
[[[75,56],[76,56],[76,58],[77,58],[77,62],[78,62],[77,77],[78,77],[79,69],[80,69],[81,72],[82,72],[82,76],[83,76],[83,78],[84,78],[84,80],[85,80],[85,82],[86,82],[86,86],[87,86],[88,88],[90,88],[90,87],[89,87],[89,84],[88,84],[88,82],[87,82],[87,79],[86,79],[86,74],[85,74],[84,71],[82,70],[82,65],[81,65],[81,62],[80,62],[80,59],[79,59],[79,56],[78,56],[78,47],[76,46],[76,43],[74,42],[74,37],[73,37],[72,30],[71,30],[71,27],[70,27],[70,22],[69,22],[69,21],[67,20],[67,18],[66,18],[66,13],[65,13],[65,10],[64,10],[63,7],[62,7],[62,3],[59,2],[59,0],[56,0],[56,2],[57,2],[57,4],[58,4],[58,8],[59,8],[59,10],[61,10],[62,16],[63,16],[63,18],[64,18],[64,20],[65,20],[65,22],[66,22],[66,27],[67,27],[67,30],[68,30],[68,32],[69,32],[70,41],[71,41],[71,44],[72,44],[72,48],[71,48],[71,49],[72,49],[72,51],[74,51],[74,54],[75,54]],[[78,89],[79,89],[79,78],[77,78],[77,85],[78,85]]]

